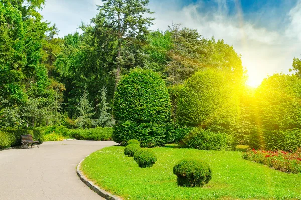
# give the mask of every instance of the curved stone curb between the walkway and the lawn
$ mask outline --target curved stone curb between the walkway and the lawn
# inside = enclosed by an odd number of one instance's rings
[[[87,156],[88,157],[88,156]],[[80,166],[81,166],[81,163],[85,160],[82,159],[82,161],[80,161],[80,163],[77,165],[77,175],[79,176],[79,179],[85,183],[90,189],[92,189],[93,191],[95,191],[99,196],[107,199],[107,200],[122,200],[121,198],[119,198],[118,196],[114,196],[113,194],[103,190],[103,189],[100,189],[98,186],[94,185],[92,183],[91,180],[89,180],[84,174],[83,172],[80,170]]]

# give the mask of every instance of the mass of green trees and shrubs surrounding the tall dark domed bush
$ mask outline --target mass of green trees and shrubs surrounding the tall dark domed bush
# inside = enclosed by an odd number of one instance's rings
[[[164,143],[301,146],[298,58],[290,75],[274,74],[251,88],[241,56],[223,40],[180,24],[150,31],[147,0],[103,2],[91,23],[80,24],[81,34],[59,38],[55,24],[39,13],[44,0],[0,0],[0,148],[16,145],[10,134],[22,131],[93,140],[105,132],[110,138],[112,130],[100,127],[118,125],[119,80],[136,70],[156,73],[167,88],[171,115]]]

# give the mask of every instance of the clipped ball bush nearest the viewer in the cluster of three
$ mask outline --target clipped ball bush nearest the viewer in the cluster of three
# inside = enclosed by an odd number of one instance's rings
[[[146,168],[152,167],[157,161],[157,156],[153,151],[149,149],[141,149],[134,155],[134,160],[137,162],[139,167]]]

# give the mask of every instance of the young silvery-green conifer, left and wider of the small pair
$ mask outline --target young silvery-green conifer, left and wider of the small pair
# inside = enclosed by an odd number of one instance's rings
[[[94,115],[94,112],[92,112],[94,108],[92,107],[92,103],[89,102],[88,95],[85,89],[80,98],[79,105],[76,107],[79,112],[77,124],[80,128],[87,128],[92,124],[90,117]]]

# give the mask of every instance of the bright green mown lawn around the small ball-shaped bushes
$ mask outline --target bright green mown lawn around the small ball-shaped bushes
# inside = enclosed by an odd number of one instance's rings
[[[301,199],[301,174],[288,174],[242,159],[241,152],[154,148],[157,162],[139,168],[124,147],[107,147],[88,156],[84,174],[124,199]],[[212,180],[203,188],[179,187],[173,166],[183,158],[209,163]]]

